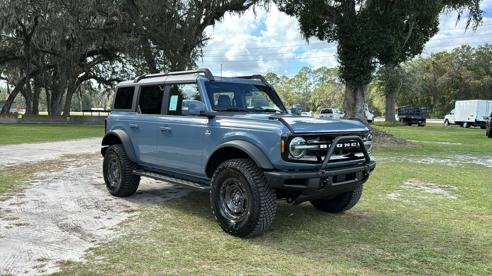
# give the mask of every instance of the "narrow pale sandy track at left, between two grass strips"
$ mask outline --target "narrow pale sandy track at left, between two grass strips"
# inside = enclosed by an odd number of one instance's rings
[[[0,166],[35,163],[63,154],[92,153],[101,150],[102,138],[0,146]]]

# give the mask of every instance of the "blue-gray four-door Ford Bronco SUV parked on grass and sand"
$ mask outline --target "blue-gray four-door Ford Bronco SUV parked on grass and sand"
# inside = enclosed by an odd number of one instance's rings
[[[300,114],[261,75],[198,69],[118,83],[102,139],[106,187],[132,195],[145,176],[209,192],[218,224],[239,237],[265,231],[279,201],[352,208],[376,166],[369,127]]]

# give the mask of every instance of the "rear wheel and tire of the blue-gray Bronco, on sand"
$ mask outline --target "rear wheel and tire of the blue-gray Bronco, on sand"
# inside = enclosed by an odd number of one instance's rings
[[[138,169],[138,165],[131,162],[122,144],[110,146],[104,154],[102,164],[104,183],[109,193],[122,197],[137,191],[140,176],[132,172]]]

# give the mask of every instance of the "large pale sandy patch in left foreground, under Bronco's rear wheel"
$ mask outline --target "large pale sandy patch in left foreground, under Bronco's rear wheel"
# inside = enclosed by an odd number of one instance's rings
[[[112,228],[137,208],[190,191],[142,177],[137,193],[114,197],[101,167],[102,157],[72,159],[59,171],[36,173],[42,180],[32,188],[0,201],[0,274],[56,272],[57,261],[80,261],[86,249],[114,237]]]

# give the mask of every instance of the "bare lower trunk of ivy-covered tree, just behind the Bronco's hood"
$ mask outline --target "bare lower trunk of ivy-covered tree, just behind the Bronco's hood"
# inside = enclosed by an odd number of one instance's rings
[[[345,97],[343,99],[344,119],[359,118],[367,123],[366,118],[366,94],[368,85],[362,87],[351,87],[345,85]]]

